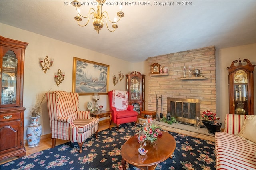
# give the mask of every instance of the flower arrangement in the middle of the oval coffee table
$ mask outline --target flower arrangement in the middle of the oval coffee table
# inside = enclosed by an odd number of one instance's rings
[[[147,141],[154,143],[159,136],[162,136],[162,132],[160,131],[160,127],[154,123],[144,123],[143,127],[139,129],[138,134],[138,142],[142,142],[143,145],[146,145]]]

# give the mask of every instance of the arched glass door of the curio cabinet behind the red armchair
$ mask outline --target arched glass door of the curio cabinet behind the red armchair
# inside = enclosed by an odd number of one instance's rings
[[[131,99],[132,100],[140,100],[140,78],[139,77],[132,77],[131,79]]]

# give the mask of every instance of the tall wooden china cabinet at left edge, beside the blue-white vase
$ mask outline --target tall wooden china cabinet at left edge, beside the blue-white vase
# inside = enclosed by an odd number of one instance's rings
[[[28,43],[0,36],[0,159],[26,155],[23,144],[24,53]]]

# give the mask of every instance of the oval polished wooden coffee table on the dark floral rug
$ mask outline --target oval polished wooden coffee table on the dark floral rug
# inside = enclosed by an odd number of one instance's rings
[[[143,147],[148,150],[146,155],[139,153],[140,143],[138,143],[136,136],[127,140],[121,149],[123,169],[126,170],[125,164],[128,162],[142,170],[154,170],[157,164],[172,158],[171,155],[175,150],[176,140],[169,133],[163,131],[162,133],[162,137],[156,140],[155,145],[147,144]]]

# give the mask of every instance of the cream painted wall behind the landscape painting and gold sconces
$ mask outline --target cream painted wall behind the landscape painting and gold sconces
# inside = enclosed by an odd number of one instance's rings
[[[110,65],[108,91],[113,89],[125,90],[125,81],[119,82],[116,86],[113,85],[112,76],[114,74],[117,75],[119,71],[124,74],[128,74],[136,70],[144,74],[144,68],[141,63],[134,64],[123,61],[96,51],[84,49],[76,45],[61,42],[2,23],[1,36],[29,43],[25,51],[24,67],[23,106],[26,108],[24,113],[24,139],[26,139],[26,128],[30,124],[30,108],[36,100],[36,95],[43,94],[48,90],[72,91],[73,57]],[[54,58],[54,64],[50,67],[50,70],[44,74],[40,68],[38,59],[40,57],[44,58],[46,55],[49,58]],[[54,73],[57,72],[58,69],[65,71],[66,74],[64,81],[59,87],[57,87],[54,81]],[[87,109],[86,104],[88,101],[92,102],[91,95],[80,96],[80,110]],[[109,110],[108,96],[101,95],[98,104],[103,105],[103,109]],[[46,102],[43,103],[42,115],[39,121],[43,127],[42,135],[51,133]]]

